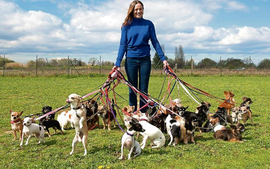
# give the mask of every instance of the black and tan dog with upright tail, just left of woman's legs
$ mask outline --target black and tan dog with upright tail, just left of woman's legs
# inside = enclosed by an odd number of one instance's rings
[[[114,103],[113,99],[112,99],[112,103]],[[110,109],[110,107],[109,107],[109,109]],[[101,117],[101,120],[102,120],[102,123],[103,123],[103,129],[105,130],[106,124],[108,124],[108,130],[111,131],[112,121],[114,122],[113,127],[115,128],[115,119],[114,119],[114,116],[116,117],[116,110],[114,109],[114,105],[112,104],[112,111],[113,112],[111,112],[111,109],[108,110],[107,107],[105,107],[103,109],[103,106],[99,106],[98,107],[98,111],[100,111],[98,114],[99,114],[99,117]],[[113,116],[112,113],[114,114],[114,116]]]

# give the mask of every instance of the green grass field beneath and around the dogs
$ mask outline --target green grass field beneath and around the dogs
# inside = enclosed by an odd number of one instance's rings
[[[132,160],[118,160],[123,133],[117,127],[111,132],[107,129],[89,131],[87,156],[83,156],[81,143],[77,144],[74,154],[69,155],[74,129],[66,130],[64,135],[59,132],[50,138],[46,134],[45,144],[40,145],[32,137],[28,146],[21,148],[18,137],[17,141],[12,141],[9,109],[23,110],[23,115],[40,113],[44,105],[56,109],[66,104],[69,94],[89,93],[104,83],[107,77],[0,77],[0,168],[270,168],[269,76],[183,76],[181,79],[217,97],[223,98],[223,91],[231,90],[238,103],[241,103],[243,96],[250,97],[253,100],[251,110],[254,126],[247,121],[243,133],[243,139],[247,141],[242,144],[217,141],[213,133],[195,132],[195,144],[152,149],[148,141],[140,156]],[[162,83],[163,77],[150,78],[151,96],[158,97]],[[128,99],[127,86],[119,84],[116,92]],[[176,95],[177,91],[174,90],[173,97]],[[195,110],[197,105],[182,90],[180,96],[183,105],[189,105],[189,111]],[[212,104],[211,111],[218,106],[215,100],[202,98]],[[117,97],[117,103],[120,107],[128,105],[120,97]],[[141,142],[142,138],[138,140]],[[128,151],[124,153],[127,158]]]

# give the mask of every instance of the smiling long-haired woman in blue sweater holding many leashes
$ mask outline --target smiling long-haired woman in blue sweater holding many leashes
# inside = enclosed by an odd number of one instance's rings
[[[159,55],[163,66],[168,64],[160,44],[156,37],[154,24],[143,19],[144,5],[141,1],[133,1],[130,3],[128,15],[121,28],[121,40],[118,50],[116,63],[112,69],[120,70],[120,64],[126,53],[125,70],[128,81],[138,88],[138,72],[139,72],[139,89],[148,93],[148,84],[151,72],[150,45],[151,40],[153,47]],[[129,89],[129,105],[135,106],[137,110],[136,93]],[[144,106],[144,100],[140,97],[140,107]],[[145,113],[147,107],[141,109]]]

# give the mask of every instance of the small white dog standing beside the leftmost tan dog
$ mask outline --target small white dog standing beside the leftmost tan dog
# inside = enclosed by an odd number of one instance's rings
[[[45,130],[40,125],[32,123],[32,121],[34,121],[34,117],[33,118],[26,117],[22,121],[23,122],[23,129],[22,129],[22,141],[21,141],[20,146],[22,146],[23,139],[25,136],[28,136],[28,139],[25,143],[25,145],[27,145],[30,138],[32,137],[32,134],[34,134],[35,137],[39,139],[38,144],[42,141],[43,141],[43,143],[45,143],[45,137],[44,137]]]

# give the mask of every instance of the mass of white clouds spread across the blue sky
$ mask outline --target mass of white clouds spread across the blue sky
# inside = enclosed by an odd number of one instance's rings
[[[23,11],[15,3],[0,0],[0,52],[27,49],[41,53],[117,54],[129,1],[99,2],[95,6],[83,1],[60,2],[59,8],[68,9],[67,23],[50,13]],[[269,53],[269,27],[209,26],[217,10],[248,10],[242,3],[145,0],[144,8],[144,18],[154,23],[158,40],[168,53],[173,54],[179,44],[190,53]]]

